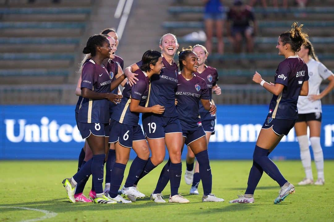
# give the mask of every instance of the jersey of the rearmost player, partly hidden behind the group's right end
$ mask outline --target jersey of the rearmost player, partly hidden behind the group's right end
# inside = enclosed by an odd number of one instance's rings
[[[209,90],[209,98],[210,101],[212,99],[212,87],[217,85],[218,81],[218,73],[217,70],[211,66],[205,65],[205,70],[202,73],[195,73],[197,76],[201,77],[205,80],[206,85]],[[205,110],[202,103],[199,103],[199,115],[201,116],[201,120],[214,120],[216,118],[216,114],[211,115],[208,110]]]

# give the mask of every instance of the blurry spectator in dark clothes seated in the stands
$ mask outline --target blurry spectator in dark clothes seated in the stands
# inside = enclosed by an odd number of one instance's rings
[[[241,52],[241,41],[246,38],[247,52],[254,51],[254,36],[257,33],[257,23],[251,7],[236,0],[227,13],[227,36],[233,43],[235,53]]]

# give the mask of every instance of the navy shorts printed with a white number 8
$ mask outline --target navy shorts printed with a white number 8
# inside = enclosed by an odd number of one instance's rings
[[[106,136],[109,134],[108,123],[76,122],[76,124],[81,133],[82,139],[86,139],[91,134],[95,136]]]

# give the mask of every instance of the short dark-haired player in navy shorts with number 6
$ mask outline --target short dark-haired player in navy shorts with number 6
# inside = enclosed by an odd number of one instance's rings
[[[135,150],[137,157],[131,164],[122,193],[134,198],[145,197],[145,194],[140,193],[134,187],[134,183],[142,174],[150,155],[142,128],[138,124],[139,113],[162,114],[165,111],[165,108],[160,105],[145,106],[149,95],[150,79],[154,74],[160,74],[163,67],[161,53],[154,50],[146,51],[142,57],[142,62],[140,69],[135,71],[138,74],[137,83],[133,86],[125,85],[122,93],[123,99],[115,107],[110,122],[109,143],[115,144],[116,162],[111,172],[112,180],[108,198],[119,203],[131,203],[131,201],[118,195],[131,148]]]

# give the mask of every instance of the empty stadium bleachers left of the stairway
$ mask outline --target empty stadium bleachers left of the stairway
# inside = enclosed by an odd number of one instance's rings
[[[63,102],[59,95],[64,89],[57,84],[68,83],[77,66],[77,48],[92,4],[91,0],[0,1],[0,104]],[[9,99],[9,94],[15,96]]]

